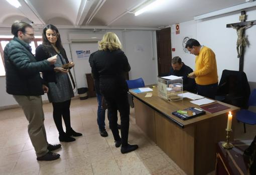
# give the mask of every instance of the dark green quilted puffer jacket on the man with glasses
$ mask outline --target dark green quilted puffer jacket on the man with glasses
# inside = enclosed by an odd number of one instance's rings
[[[6,91],[12,95],[43,95],[40,72],[53,69],[47,60],[37,62],[28,43],[14,37],[4,51]]]

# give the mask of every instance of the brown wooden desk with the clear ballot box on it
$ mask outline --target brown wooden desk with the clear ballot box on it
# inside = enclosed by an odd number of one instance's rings
[[[167,102],[157,96],[157,87],[153,90],[151,98],[130,91],[135,97],[136,124],[187,174],[205,175],[214,170],[215,145],[225,140],[227,113],[231,111],[234,120],[239,108],[219,102],[230,108],[184,121],[172,112],[199,106],[187,98]]]

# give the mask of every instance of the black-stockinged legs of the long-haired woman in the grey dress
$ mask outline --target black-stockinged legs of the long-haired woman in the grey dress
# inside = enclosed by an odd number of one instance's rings
[[[65,134],[63,127],[62,127],[62,117],[66,126],[66,131],[71,129],[70,124],[70,100],[59,102],[59,103],[52,103],[53,105],[53,120],[55,125],[59,131],[59,134]]]

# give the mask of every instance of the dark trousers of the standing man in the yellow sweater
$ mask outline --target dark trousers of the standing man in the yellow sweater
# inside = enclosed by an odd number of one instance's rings
[[[217,93],[218,83],[209,84],[209,85],[196,85],[196,90],[198,95],[215,99]]]

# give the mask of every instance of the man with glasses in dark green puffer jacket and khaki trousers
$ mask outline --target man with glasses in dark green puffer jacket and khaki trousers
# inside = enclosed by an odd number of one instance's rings
[[[48,87],[40,77],[41,71],[53,69],[51,65],[56,62],[57,57],[36,61],[29,45],[35,39],[31,25],[16,21],[12,25],[12,34],[14,39],[4,50],[7,93],[13,95],[29,121],[28,132],[37,160],[57,159],[60,154],[51,151],[61,145],[47,142],[41,95],[48,92]]]

